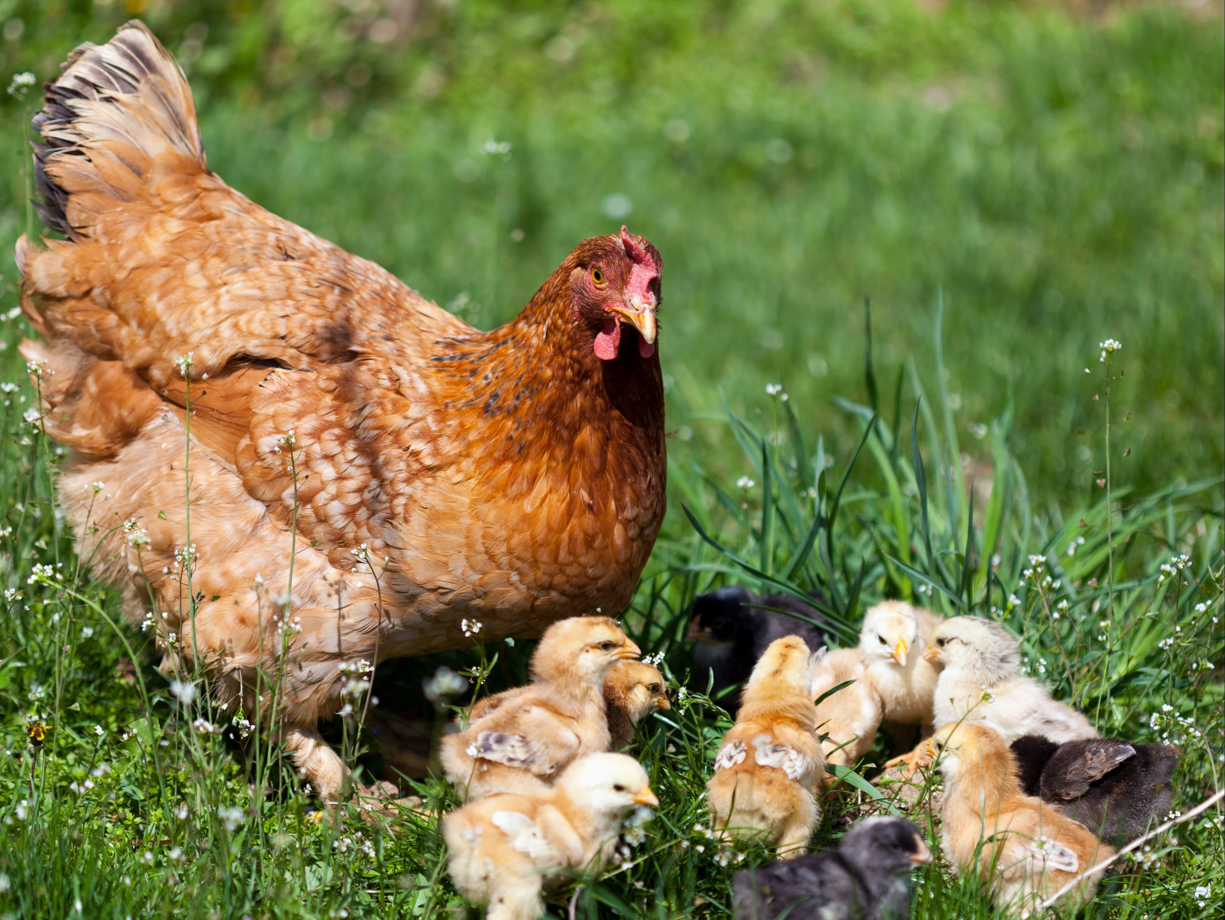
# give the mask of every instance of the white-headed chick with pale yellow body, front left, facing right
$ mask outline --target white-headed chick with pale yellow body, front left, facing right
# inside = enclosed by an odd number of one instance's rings
[[[622,753],[578,758],[551,789],[492,795],[442,821],[447,870],[488,920],[535,920],[540,893],[565,869],[598,870],[612,855],[621,817],[655,806],[647,773]]]

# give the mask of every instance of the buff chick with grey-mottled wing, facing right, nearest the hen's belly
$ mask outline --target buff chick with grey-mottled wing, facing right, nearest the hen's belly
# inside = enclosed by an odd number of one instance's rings
[[[609,748],[604,677],[638,654],[606,616],[554,624],[532,655],[532,686],[466,731],[443,736],[443,774],[469,801],[541,791],[576,757]]]

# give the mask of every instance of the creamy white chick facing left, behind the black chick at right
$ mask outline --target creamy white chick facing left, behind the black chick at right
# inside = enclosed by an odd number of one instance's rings
[[[944,620],[926,657],[944,668],[936,681],[937,725],[979,722],[998,731],[1005,744],[1022,735],[1058,744],[1098,736],[1084,715],[1020,674],[1017,641],[1000,624],[980,616]]]

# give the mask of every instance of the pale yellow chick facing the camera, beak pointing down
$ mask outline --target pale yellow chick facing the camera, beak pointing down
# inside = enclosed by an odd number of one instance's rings
[[[921,725],[930,735],[932,698],[940,671],[924,657],[940,619],[904,600],[886,600],[864,616],[859,648],[867,677],[881,696],[882,718]]]

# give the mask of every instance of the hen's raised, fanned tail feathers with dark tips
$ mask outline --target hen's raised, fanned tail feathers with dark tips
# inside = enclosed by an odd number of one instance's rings
[[[167,154],[181,157],[181,169],[207,169],[187,80],[137,21],[100,48],[72,51],[32,126],[43,137],[33,143],[38,211],[74,240],[89,236],[104,211],[141,197]]]

